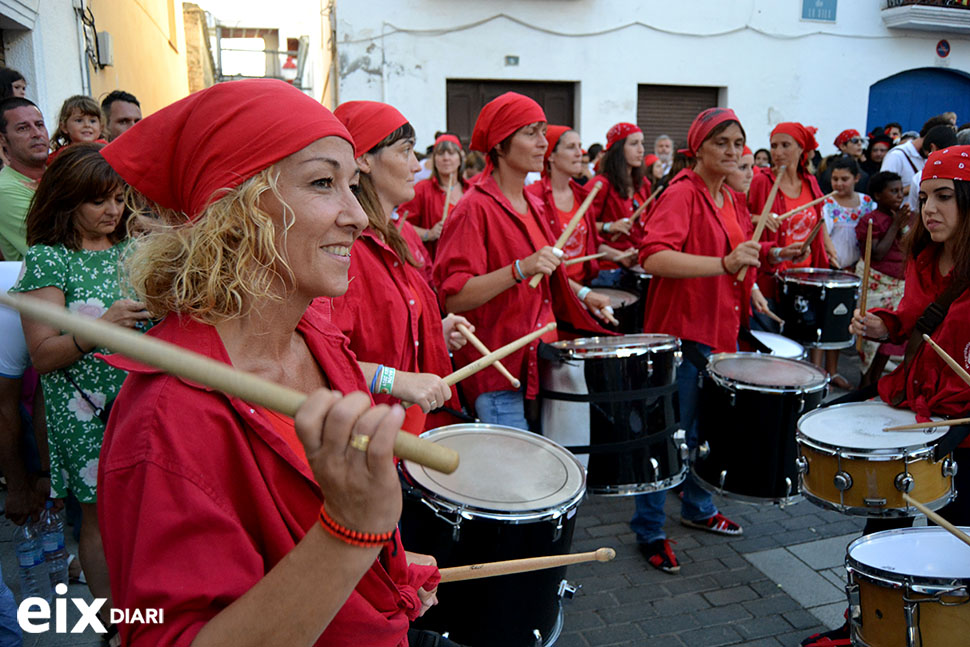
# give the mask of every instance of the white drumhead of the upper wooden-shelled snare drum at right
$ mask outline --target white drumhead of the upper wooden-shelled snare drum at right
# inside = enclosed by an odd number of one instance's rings
[[[883,431],[883,427],[915,422],[916,414],[906,409],[894,409],[883,402],[852,402],[806,413],[798,421],[798,431],[826,447],[872,452],[918,449],[936,442],[948,429]]]

